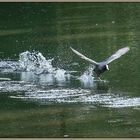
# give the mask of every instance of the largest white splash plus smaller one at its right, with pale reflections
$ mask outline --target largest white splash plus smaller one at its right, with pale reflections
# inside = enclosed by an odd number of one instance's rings
[[[21,74],[21,79],[27,81],[39,79],[39,83],[47,85],[53,85],[54,83],[58,83],[58,85],[64,84],[70,75],[64,69],[53,67],[52,60],[46,60],[40,52],[31,53],[26,51],[21,53],[20,67],[26,72]]]

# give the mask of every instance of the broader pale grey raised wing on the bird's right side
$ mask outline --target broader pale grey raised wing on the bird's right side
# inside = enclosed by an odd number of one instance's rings
[[[119,57],[121,57],[122,55],[124,55],[125,53],[127,53],[130,50],[129,47],[124,47],[122,49],[119,49],[117,52],[115,52],[113,55],[111,55],[109,58],[107,58],[104,62],[105,64],[109,64],[112,61],[114,61],[115,59],[118,59]]]

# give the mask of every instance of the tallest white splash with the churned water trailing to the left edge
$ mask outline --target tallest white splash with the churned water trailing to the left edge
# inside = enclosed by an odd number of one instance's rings
[[[19,54],[19,61],[1,61],[1,72],[34,72],[35,74],[53,73],[56,68],[52,66],[52,60],[46,58],[40,52],[25,51]]]

